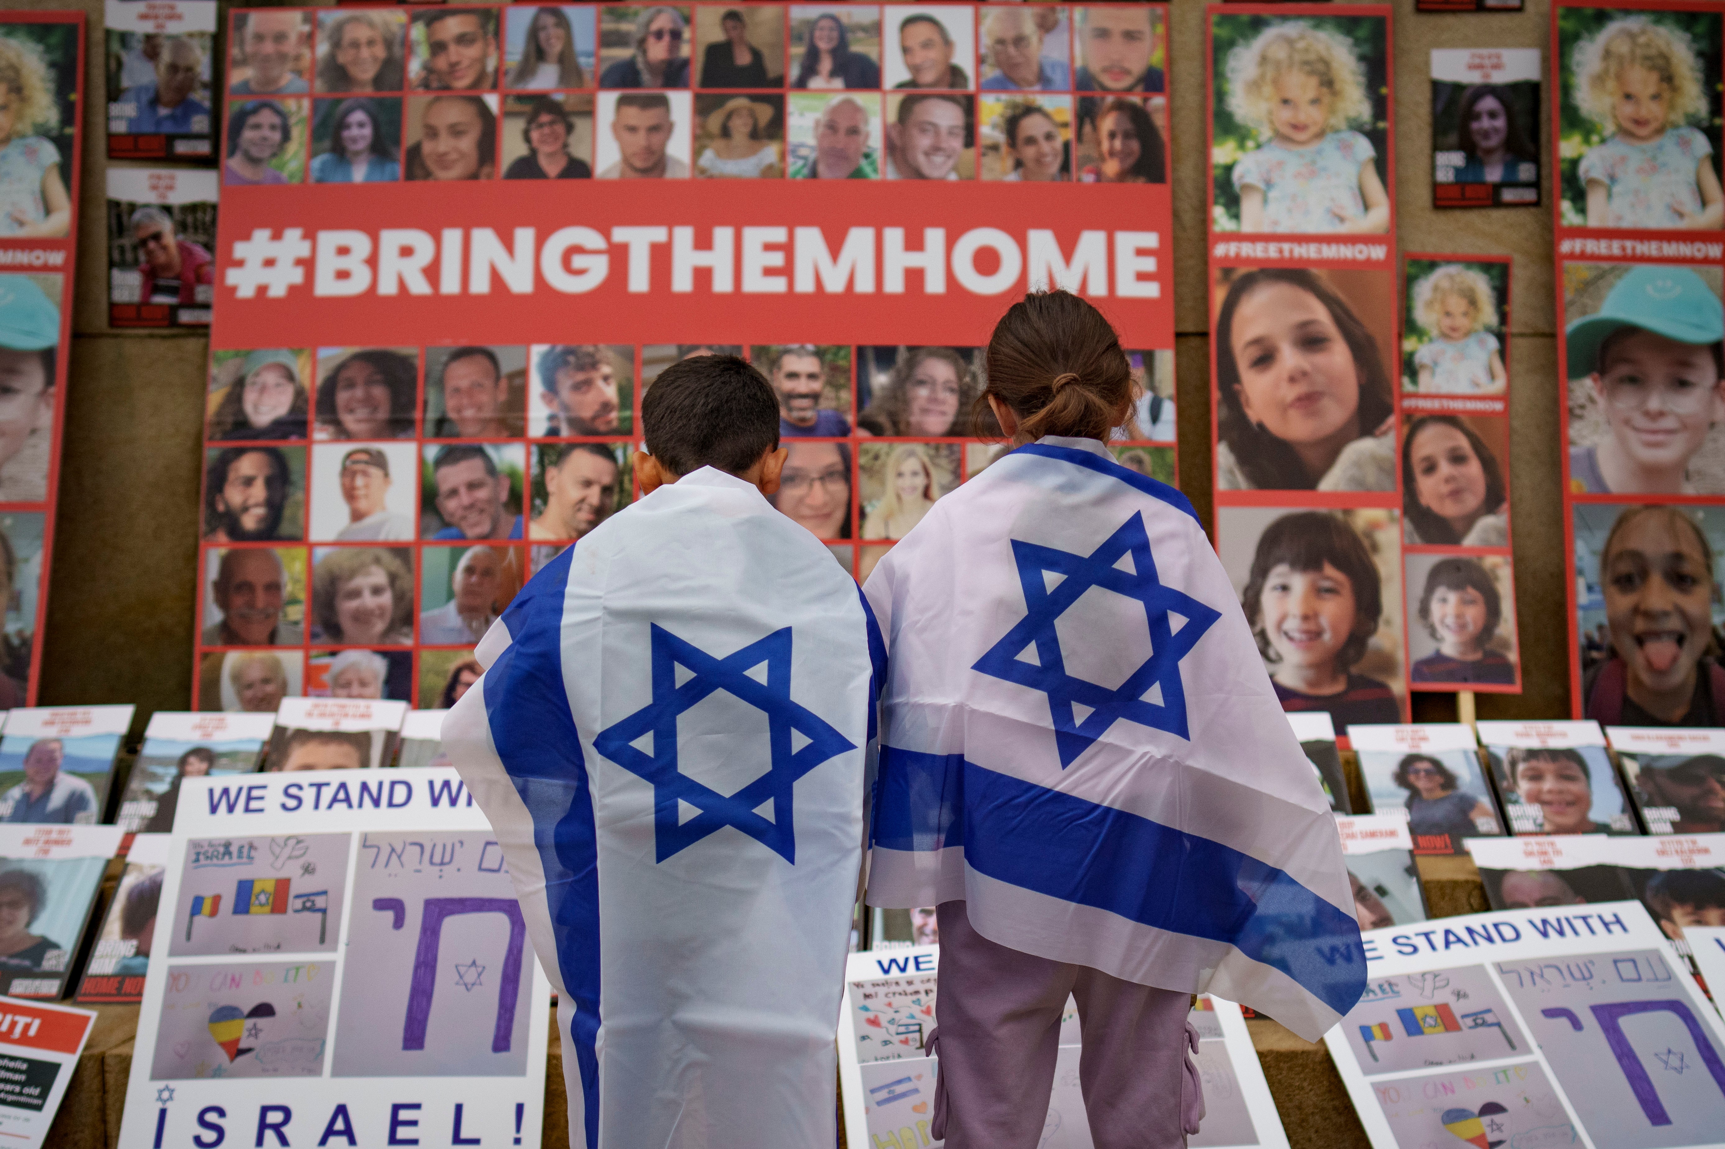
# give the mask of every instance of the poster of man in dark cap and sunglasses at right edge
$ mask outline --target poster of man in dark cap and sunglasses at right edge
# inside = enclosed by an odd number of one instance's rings
[[[1725,730],[1606,727],[1647,834],[1725,830]]]

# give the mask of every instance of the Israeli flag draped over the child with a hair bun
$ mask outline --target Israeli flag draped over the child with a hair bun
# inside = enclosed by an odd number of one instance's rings
[[[868,901],[1316,1040],[1366,975],[1330,806],[1173,488],[1045,438],[864,587],[887,641]]]

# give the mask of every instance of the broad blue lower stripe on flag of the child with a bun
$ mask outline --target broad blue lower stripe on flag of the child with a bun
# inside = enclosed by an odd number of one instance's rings
[[[963,844],[964,863],[978,873],[1157,930],[1226,942],[1337,1013],[1364,991],[1358,920],[1287,872],[961,755],[881,748],[875,844]]]

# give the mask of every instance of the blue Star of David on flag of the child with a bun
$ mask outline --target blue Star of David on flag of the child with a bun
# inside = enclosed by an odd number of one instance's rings
[[[1132,515],[1088,555],[1070,555],[1013,539],[1013,558],[1018,562],[1018,581],[1025,587],[1025,606],[1030,613],[978,658],[971,670],[1049,696],[1061,770],[1123,718],[1190,737],[1180,660],[1221,615],[1195,598],[1161,584],[1156,577],[1156,562],[1151,558],[1151,536],[1144,529],[1144,515]],[[1126,565],[1121,565],[1123,562]],[[1044,572],[1061,575],[1052,589]],[[1138,599],[1151,624],[1151,656],[1116,689],[1066,674],[1061,637],[1054,629],[1054,622],[1066,613],[1066,608],[1094,586]],[[1178,630],[1170,620],[1171,613],[1185,618]],[[1032,644],[1037,660],[1025,661],[1019,655]],[[1147,696],[1157,693],[1157,687],[1161,699],[1151,701]],[[1087,713],[1080,718],[1075,708]]]

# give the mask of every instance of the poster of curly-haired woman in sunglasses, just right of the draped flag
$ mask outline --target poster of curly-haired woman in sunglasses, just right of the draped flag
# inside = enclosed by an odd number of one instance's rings
[[[1416,854],[1459,854],[1502,835],[1492,786],[1465,724],[1358,725],[1351,732],[1371,810],[1408,818]]]

